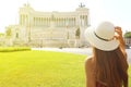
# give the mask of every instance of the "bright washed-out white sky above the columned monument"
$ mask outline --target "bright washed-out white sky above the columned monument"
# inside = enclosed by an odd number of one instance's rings
[[[131,30],[131,0],[2,0],[0,2],[0,32],[19,23],[19,8],[28,2],[36,11],[75,11],[82,2],[90,9],[92,26],[102,21],[110,21],[121,26],[123,32]]]

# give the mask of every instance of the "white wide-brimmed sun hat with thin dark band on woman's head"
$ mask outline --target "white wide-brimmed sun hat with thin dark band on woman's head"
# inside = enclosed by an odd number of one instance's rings
[[[110,22],[103,22],[96,28],[85,29],[85,39],[97,49],[111,51],[118,48],[119,41],[114,38],[115,26]]]

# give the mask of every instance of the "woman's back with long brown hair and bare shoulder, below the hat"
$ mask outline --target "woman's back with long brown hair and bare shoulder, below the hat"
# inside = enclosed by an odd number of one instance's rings
[[[103,51],[94,48],[94,57],[85,62],[87,87],[124,87],[128,84],[128,63],[120,48]]]

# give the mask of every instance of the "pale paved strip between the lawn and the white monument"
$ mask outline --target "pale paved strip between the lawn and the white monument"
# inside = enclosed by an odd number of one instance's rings
[[[58,52],[70,52],[78,54],[92,54],[91,48],[32,48],[32,50],[47,50],[47,51],[58,51]],[[128,62],[131,63],[131,49],[126,49],[128,53]]]

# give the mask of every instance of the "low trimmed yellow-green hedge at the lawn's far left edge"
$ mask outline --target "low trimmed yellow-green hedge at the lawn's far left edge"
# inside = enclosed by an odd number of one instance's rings
[[[0,52],[26,51],[31,47],[0,47]]]

